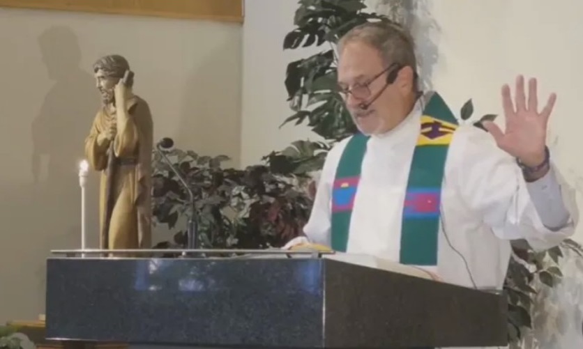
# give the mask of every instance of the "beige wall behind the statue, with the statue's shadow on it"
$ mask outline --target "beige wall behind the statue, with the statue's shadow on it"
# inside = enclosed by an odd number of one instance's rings
[[[241,24],[0,8],[0,321],[36,318],[48,251],[79,247],[77,163],[99,103],[91,63],[112,53],[130,61],[155,139],[239,164]]]

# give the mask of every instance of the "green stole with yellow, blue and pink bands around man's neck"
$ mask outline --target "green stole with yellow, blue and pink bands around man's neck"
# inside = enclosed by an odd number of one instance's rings
[[[434,93],[421,116],[421,130],[409,170],[402,211],[399,261],[402,264],[437,265],[441,183],[449,144],[457,125],[444,100]],[[331,245],[335,251],[347,249],[354,197],[368,139],[363,134],[351,137],[336,169],[331,229]]]

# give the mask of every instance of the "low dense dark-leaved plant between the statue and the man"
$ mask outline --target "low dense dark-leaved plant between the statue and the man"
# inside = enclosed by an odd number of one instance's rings
[[[279,247],[299,235],[307,222],[310,199],[289,171],[275,174],[267,165],[222,169],[228,157],[199,156],[190,150],[173,149],[168,157],[195,194],[195,217],[204,248]],[[157,224],[176,230],[181,217],[192,215],[188,192],[156,152],[152,196]],[[185,230],[178,229],[174,242],[156,247],[185,247],[185,235]]]

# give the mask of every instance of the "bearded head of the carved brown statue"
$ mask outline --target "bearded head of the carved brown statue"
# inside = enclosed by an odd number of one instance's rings
[[[104,104],[114,101],[114,88],[123,78],[126,70],[130,70],[128,61],[119,54],[103,56],[93,63],[93,75],[95,75],[96,86],[101,93],[101,100]],[[128,87],[134,84],[133,78],[128,80]]]

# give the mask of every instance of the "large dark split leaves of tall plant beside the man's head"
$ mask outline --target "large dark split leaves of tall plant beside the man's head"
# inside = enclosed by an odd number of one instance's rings
[[[354,26],[370,21],[388,21],[365,13],[363,0],[301,0],[294,16],[296,28],[287,33],[284,49],[328,44],[322,52],[287,65],[285,88],[294,114],[282,125],[308,122],[312,131],[326,140],[338,141],[356,132],[356,126],[338,91],[335,45]]]

